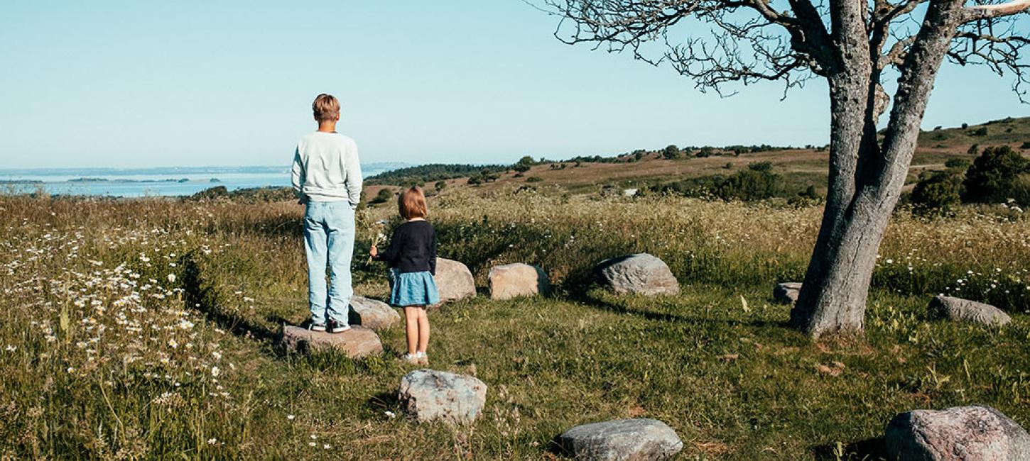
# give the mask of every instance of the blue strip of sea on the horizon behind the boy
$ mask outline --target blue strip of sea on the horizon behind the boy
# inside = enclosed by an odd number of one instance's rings
[[[368,164],[362,166],[362,173],[368,178],[408,166]],[[216,186],[229,190],[288,187],[289,167],[0,170],[0,193],[43,191],[52,196],[174,197],[192,196]]]

